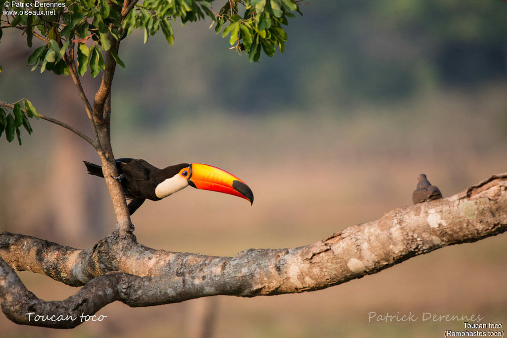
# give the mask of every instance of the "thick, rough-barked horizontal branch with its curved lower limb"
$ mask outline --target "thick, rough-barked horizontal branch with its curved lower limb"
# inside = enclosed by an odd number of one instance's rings
[[[16,323],[68,328],[79,325],[82,314],[93,315],[114,301],[138,307],[218,294],[252,297],[318,290],[505,231],[507,173],[446,199],[392,210],[307,246],[248,249],[234,257],[155,250],[119,231],[89,249],[3,233],[0,300],[6,316]],[[45,302],[28,291],[11,268],[86,285],[64,301]],[[34,313],[31,321],[27,313]],[[35,315],[76,319],[34,321]]]

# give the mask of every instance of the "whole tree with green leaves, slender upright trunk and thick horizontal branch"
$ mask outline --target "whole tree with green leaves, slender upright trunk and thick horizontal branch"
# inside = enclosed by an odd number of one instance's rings
[[[287,18],[299,12],[293,0],[79,0],[38,3],[27,9],[11,2],[4,8],[3,29],[18,29],[44,44],[28,59],[40,68],[70,76],[82,99],[92,137],[39,114],[23,98],[0,101],[0,136],[21,144],[21,127],[31,133],[30,118],[45,119],[85,139],[100,157],[113,202],[116,230],[93,248],[79,250],[20,234],[0,235],[0,299],[8,318],[20,324],[68,328],[81,314],[93,315],[114,301],[132,307],[153,306],[208,295],[273,295],[317,290],[398,264],[412,256],[507,230],[507,173],[494,175],[444,200],[391,211],[381,219],[350,227],[322,241],[293,249],[249,249],[234,257],[212,257],[155,250],[136,242],[111,146],[111,87],[116,65],[125,67],[120,44],[133,29],[143,29],[144,42],[162,30],[169,44],[171,21],[183,24],[209,17],[215,31],[249,61],[276,48],[283,52]],[[222,5],[222,6],[221,6]],[[221,7],[220,7],[221,6]],[[220,7],[220,9],[218,9]],[[91,38],[91,39],[90,39]],[[90,71],[102,81],[90,100],[81,77]],[[72,286],[84,285],[61,302],[45,302],[29,292],[12,269],[30,270]],[[35,321],[38,314],[55,317]],[[66,318],[56,320],[59,315]],[[31,319],[31,320],[30,320]],[[65,320],[63,320],[65,319]]]

